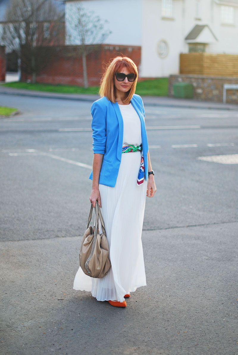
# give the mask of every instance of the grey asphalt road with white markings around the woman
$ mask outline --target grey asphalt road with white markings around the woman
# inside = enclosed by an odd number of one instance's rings
[[[145,105],[158,189],[142,233],[147,287],[118,310],[72,290],[91,103],[0,105],[21,111],[0,120],[2,354],[238,354],[237,111]]]

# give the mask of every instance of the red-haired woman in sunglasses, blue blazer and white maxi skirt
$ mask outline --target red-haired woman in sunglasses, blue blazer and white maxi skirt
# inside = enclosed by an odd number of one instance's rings
[[[146,285],[141,233],[146,195],[156,192],[144,106],[134,94],[137,78],[134,62],[116,57],[102,78],[102,98],[91,107],[94,159],[89,199],[101,207],[112,267],[101,279],[79,268],[74,280],[74,289],[91,291],[98,301],[115,307],[126,307],[125,297]]]

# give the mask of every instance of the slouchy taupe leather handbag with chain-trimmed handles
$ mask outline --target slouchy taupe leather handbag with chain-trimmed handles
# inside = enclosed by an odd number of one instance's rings
[[[79,263],[83,272],[94,278],[104,277],[111,269],[109,259],[109,244],[106,237],[105,224],[98,202],[95,205],[94,228],[89,227],[92,218],[92,203],[89,212],[88,226],[84,233],[79,252]],[[102,234],[99,234],[99,219],[102,225]]]

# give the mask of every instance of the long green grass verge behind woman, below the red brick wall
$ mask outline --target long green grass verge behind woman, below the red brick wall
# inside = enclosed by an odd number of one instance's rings
[[[71,85],[32,84],[23,82],[5,83],[2,84],[2,86],[62,94],[98,94],[99,91],[97,86],[85,89],[83,87]],[[138,82],[136,86],[136,94],[142,96],[168,96],[168,78],[157,78]]]

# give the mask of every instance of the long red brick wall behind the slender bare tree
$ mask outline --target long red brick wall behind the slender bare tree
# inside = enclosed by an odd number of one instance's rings
[[[83,65],[77,48],[78,46],[61,47],[57,58],[53,58],[51,64],[37,75],[37,82],[83,86]],[[128,56],[139,66],[141,47],[109,44],[97,47],[94,52],[87,55],[89,86],[99,85],[106,64],[117,55]],[[22,73],[22,81],[27,80],[31,80],[31,76]]]

